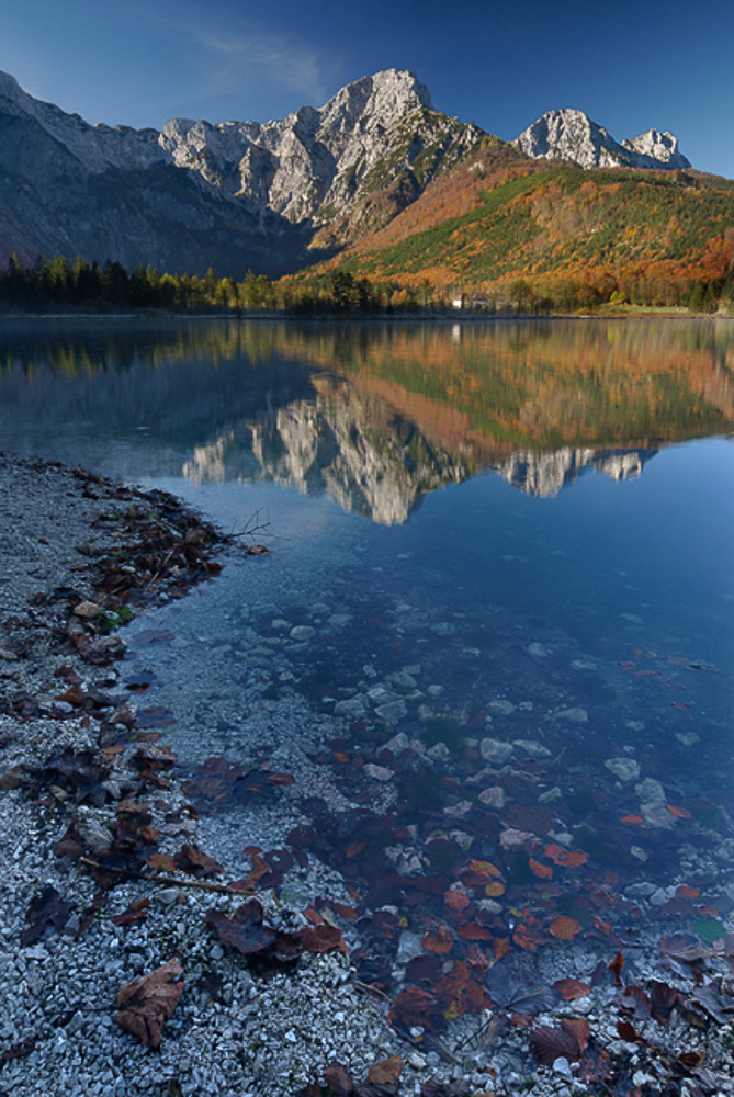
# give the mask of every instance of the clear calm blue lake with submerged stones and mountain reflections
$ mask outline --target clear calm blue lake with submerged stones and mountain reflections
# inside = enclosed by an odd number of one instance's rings
[[[122,680],[207,850],[384,985],[724,936],[733,427],[725,320],[0,329],[0,449],[236,534]]]

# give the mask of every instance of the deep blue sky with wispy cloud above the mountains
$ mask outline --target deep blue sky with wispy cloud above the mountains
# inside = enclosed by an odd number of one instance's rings
[[[0,69],[89,122],[266,122],[384,68],[506,139],[576,106],[734,178],[734,0],[16,0]]]

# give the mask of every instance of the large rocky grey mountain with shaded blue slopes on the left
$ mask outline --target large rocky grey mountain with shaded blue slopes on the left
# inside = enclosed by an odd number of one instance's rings
[[[0,259],[280,273],[388,222],[483,138],[391,69],[280,122],[92,126],[0,75]]]

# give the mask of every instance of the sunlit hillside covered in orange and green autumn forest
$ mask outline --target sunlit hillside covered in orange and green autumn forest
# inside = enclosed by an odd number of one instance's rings
[[[707,294],[734,298],[734,182],[549,166],[487,138],[332,265],[523,308],[690,305],[697,294],[705,308]]]

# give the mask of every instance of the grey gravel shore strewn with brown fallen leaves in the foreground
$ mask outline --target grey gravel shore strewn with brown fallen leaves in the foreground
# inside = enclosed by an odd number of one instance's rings
[[[217,871],[165,739],[136,724],[120,627],[216,581],[226,539],[165,494],[5,454],[0,500],[0,1097],[732,1092],[729,939],[678,957],[681,1002],[691,963],[719,964],[700,1024],[679,1009],[645,1029],[612,969],[532,1007],[497,983],[507,1008],[460,1017],[440,1041],[395,1031],[347,931]],[[637,929],[628,971],[655,1000],[651,980],[670,971]],[[567,957],[520,960],[546,985]],[[131,1010],[121,987],[163,965],[158,989],[128,986]],[[531,1015],[566,1038],[545,1061],[529,1056]]]

